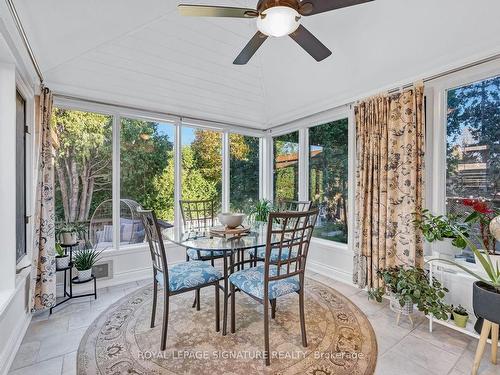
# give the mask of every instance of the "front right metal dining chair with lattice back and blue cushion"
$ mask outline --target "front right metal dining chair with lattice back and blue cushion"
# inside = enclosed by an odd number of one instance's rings
[[[236,331],[236,290],[242,291],[264,305],[264,357],[269,358],[269,305],[271,318],[276,316],[276,300],[289,293],[299,295],[302,345],[307,347],[304,315],[304,273],[311,235],[318,217],[318,209],[305,212],[272,212],[267,226],[264,264],[243,269],[229,276],[231,294],[231,333]],[[274,219],[278,219],[276,221]],[[274,223],[274,224],[273,224]],[[273,261],[272,253],[278,256]],[[282,256],[285,253],[286,256]],[[251,262],[243,260],[240,263]],[[239,266],[234,263],[234,267]],[[226,319],[226,317],[224,317]],[[226,321],[224,321],[226,324]]]

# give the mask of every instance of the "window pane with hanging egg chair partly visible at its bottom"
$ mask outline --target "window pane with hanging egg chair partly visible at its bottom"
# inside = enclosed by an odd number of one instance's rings
[[[174,126],[122,118],[120,132],[120,244],[144,241],[134,202],[174,221]],[[132,202],[131,202],[132,201]]]

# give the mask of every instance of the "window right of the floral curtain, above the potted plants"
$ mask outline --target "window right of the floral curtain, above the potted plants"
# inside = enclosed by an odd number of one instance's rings
[[[500,76],[447,91],[446,207],[473,198],[500,207]]]

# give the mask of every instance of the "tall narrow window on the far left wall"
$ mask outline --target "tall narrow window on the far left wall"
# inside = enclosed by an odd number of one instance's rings
[[[16,262],[26,255],[26,101],[16,92]]]

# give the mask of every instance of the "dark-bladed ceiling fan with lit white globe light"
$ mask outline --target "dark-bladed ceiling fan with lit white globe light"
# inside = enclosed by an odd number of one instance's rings
[[[178,9],[183,16],[256,18],[257,33],[233,62],[244,65],[269,36],[289,35],[316,61],[326,59],[332,51],[300,24],[301,18],[370,1],[374,0],[259,0],[257,9],[190,4]]]

